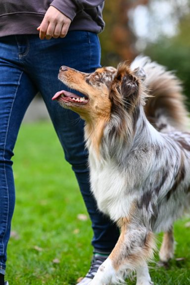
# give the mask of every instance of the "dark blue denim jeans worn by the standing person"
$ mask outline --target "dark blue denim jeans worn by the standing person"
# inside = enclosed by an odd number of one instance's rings
[[[72,165],[92,220],[96,251],[110,252],[119,231],[97,211],[90,192],[88,153],[84,147],[83,120],[65,110],[51,97],[63,84],[57,75],[61,65],[83,72],[100,66],[97,35],[85,31],[69,32],[64,39],[40,40],[37,35],[0,38],[0,273],[5,273],[6,248],[15,204],[12,173],[13,149],[24,114],[40,92],[46,103],[66,160]],[[75,125],[73,122],[76,122]],[[55,158],[57,159],[57,158]],[[64,188],[64,186],[63,186]],[[66,190],[66,189],[65,189]]]

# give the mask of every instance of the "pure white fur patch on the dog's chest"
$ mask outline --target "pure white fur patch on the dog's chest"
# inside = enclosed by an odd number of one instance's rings
[[[114,163],[97,166],[90,161],[90,164],[91,186],[98,208],[112,220],[127,217],[133,202],[133,195],[127,190],[127,178],[118,171]]]

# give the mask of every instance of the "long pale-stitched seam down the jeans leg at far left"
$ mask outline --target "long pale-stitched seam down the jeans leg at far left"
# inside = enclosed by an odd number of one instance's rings
[[[7,124],[7,128],[6,128],[6,135],[5,135],[5,140],[4,140],[4,152],[3,152],[3,159],[4,159],[4,161],[5,161],[5,157],[4,157],[4,156],[5,156],[5,146],[6,146],[8,128],[9,128],[9,123],[10,123],[10,117],[11,117],[11,114],[12,114],[12,108],[13,108],[13,105],[14,105],[16,93],[17,93],[17,90],[18,90],[18,87],[19,87],[19,83],[20,83],[20,79],[21,79],[21,77],[22,77],[22,74],[23,74],[23,71],[21,72],[20,77],[19,77],[19,80],[18,80],[18,86],[17,86],[16,91],[15,91],[15,96],[14,96],[14,99],[13,99],[13,101],[12,101],[12,105],[11,105],[11,109],[10,109],[10,114],[9,114],[9,118],[8,118],[8,124]],[[6,177],[5,164],[4,164],[4,177],[5,177],[5,182],[6,182],[7,197],[8,197],[8,209],[9,209],[9,195],[8,195],[8,184],[7,184],[7,177]],[[7,213],[8,213],[8,211],[7,211]],[[6,217],[6,229],[5,229],[4,235],[3,235],[3,237],[2,237],[2,252],[3,252],[3,253],[4,253],[3,239],[4,239],[5,233],[6,233],[6,231],[7,231],[7,223],[8,223],[8,214],[7,214],[7,217]]]

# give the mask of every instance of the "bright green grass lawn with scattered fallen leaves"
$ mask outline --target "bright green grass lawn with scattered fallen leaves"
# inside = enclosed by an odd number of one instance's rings
[[[6,279],[10,285],[75,284],[89,268],[93,233],[89,219],[77,218],[88,214],[51,124],[22,125],[14,153],[16,206]],[[154,285],[190,284],[187,221],[175,224],[175,258],[185,260],[171,261],[167,270],[151,264]]]

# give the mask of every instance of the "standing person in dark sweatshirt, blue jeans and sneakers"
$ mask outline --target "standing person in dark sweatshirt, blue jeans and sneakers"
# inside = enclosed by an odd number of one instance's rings
[[[0,0],[0,285],[8,285],[6,249],[15,204],[11,157],[24,114],[38,92],[92,221],[94,255],[82,284],[92,280],[118,239],[119,230],[97,211],[90,192],[84,122],[51,100],[63,89],[57,79],[61,65],[89,73],[100,66],[97,34],[104,28],[103,4],[103,0]]]

